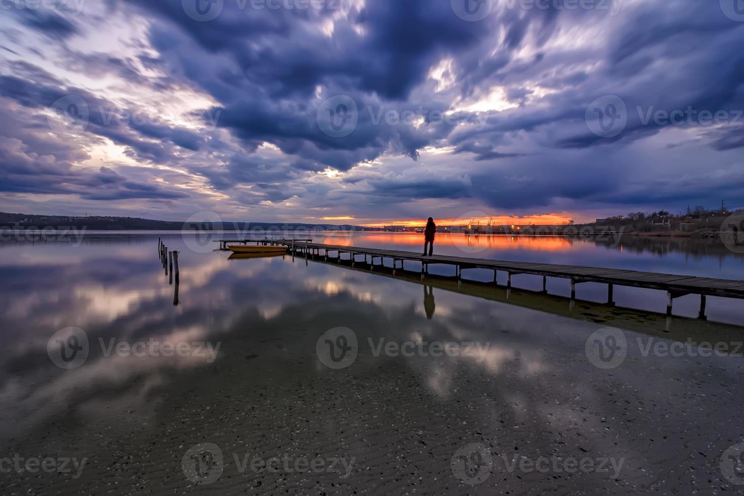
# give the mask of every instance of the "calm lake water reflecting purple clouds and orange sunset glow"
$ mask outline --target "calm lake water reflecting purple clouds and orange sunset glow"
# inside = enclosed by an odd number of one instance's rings
[[[181,252],[177,287],[158,236]],[[423,250],[420,234],[312,237]],[[703,322],[682,297],[667,319],[652,290],[616,287],[609,308],[599,284],[571,304],[567,280],[540,295],[527,275],[507,292],[476,269],[422,282],[413,263],[393,277],[213,248],[0,242],[2,494],[744,488],[740,300],[709,297]],[[435,251],[744,280],[715,239],[440,235]]]

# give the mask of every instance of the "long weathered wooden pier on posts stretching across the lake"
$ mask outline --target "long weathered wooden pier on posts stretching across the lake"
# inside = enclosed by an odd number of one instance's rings
[[[578,265],[554,265],[548,263],[507,262],[505,260],[488,260],[469,257],[455,257],[452,255],[433,255],[424,257],[412,251],[388,250],[385,248],[359,248],[356,246],[324,245],[311,242],[310,239],[246,239],[246,240],[218,240],[226,247],[227,242],[257,242],[267,245],[283,245],[292,254],[304,254],[306,257],[324,257],[328,260],[335,258],[341,263],[342,255],[347,254],[351,265],[365,263],[374,269],[375,260],[379,259],[382,265],[384,259],[390,259],[393,263],[393,271],[396,271],[400,263],[400,269],[406,261],[421,264],[421,277],[429,274],[429,265],[441,264],[452,265],[455,268],[455,277],[462,278],[462,271],[469,268],[484,268],[493,270],[493,283],[496,284],[498,271],[507,274],[507,288],[511,288],[512,276],[515,274],[533,274],[542,276],[542,292],[547,293],[546,282],[548,277],[567,279],[571,282],[571,300],[576,299],[576,285],[580,283],[603,283],[607,285],[607,304],[614,305],[612,292],[614,286],[632,286],[635,288],[658,289],[667,292],[667,315],[672,315],[672,304],[675,298],[687,294],[698,294],[700,296],[700,312],[698,317],[705,320],[705,298],[707,296],[718,296],[727,298],[744,299],[744,281],[728,279],[712,279],[710,277],[693,277],[675,274],[658,274],[655,272],[629,271],[616,268],[582,267]],[[321,254],[322,251],[322,254]],[[332,255],[336,256],[333,257]],[[363,261],[356,257],[363,256]]]

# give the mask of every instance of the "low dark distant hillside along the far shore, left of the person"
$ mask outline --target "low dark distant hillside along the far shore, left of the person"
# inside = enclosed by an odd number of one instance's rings
[[[0,212],[0,229],[28,229],[28,228],[86,228],[88,231],[181,231],[195,230],[196,225],[184,225],[184,222],[165,220],[140,219],[139,217],[115,216],[50,216],[31,215],[28,213]],[[261,229],[308,229],[314,231],[371,231],[356,225],[332,224],[304,224],[283,222],[206,222],[199,226],[203,230],[211,231],[250,231],[252,228]]]

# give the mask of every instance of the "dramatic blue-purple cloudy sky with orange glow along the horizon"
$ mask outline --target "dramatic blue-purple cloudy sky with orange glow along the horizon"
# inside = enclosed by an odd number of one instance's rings
[[[0,0],[0,210],[744,204],[744,1],[537,3]]]

